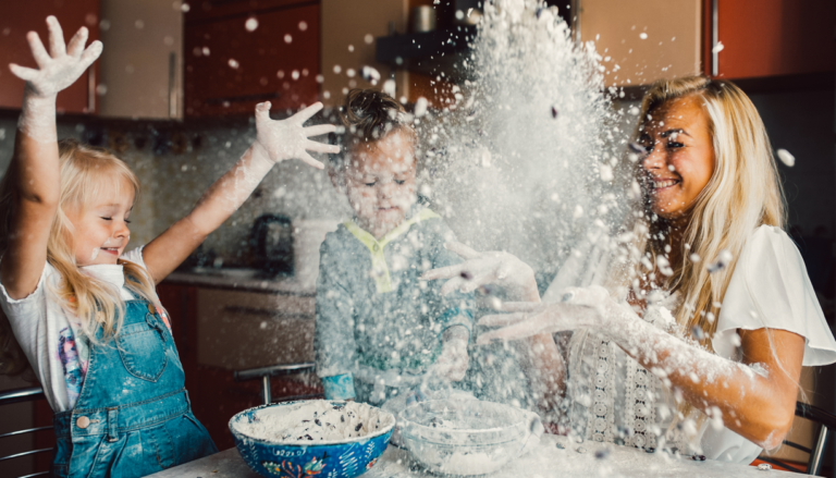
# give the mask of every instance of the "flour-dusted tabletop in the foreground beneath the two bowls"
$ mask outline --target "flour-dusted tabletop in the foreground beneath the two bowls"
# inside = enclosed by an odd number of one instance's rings
[[[557,448],[561,443],[565,449]],[[579,453],[578,448],[586,449]],[[378,464],[364,478],[423,478],[427,471],[410,470],[408,453],[389,446]],[[689,457],[675,457],[666,453],[644,453],[641,450],[613,444],[586,442],[568,443],[566,437],[544,434],[530,453],[511,462],[487,478],[539,477],[791,477],[806,476],[789,471],[762,471],[754,466],[714,461],[696,462]],[[151,475],[153,478],[260,478],[253,471],[236,449],[197,459]]]

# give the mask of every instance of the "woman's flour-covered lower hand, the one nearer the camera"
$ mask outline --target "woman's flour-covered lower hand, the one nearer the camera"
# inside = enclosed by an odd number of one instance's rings
[[[587,328],[610,330],[618,312],[627,312],[610,297],[605,289],[597,285],[567,289],[558,303],[504,303],[499,309],[511,314],[484,316],[479,324],[502,329],[480,334],[477,344]]]

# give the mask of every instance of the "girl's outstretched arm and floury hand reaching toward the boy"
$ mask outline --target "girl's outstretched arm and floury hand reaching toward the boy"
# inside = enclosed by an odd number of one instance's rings
[[[340,152],[337,146],[308,139],[335,130],[332,124],[303,126],[321,109],[322,103],[316,102],[286,120],[274,121],[270,119],[269,101],[256,106],[256,142],[230,171],[209,187],[188,216],[145,247],[143,259],[155,282],[165,279],[206,236],[232,216],[273,164],[298,158],[322,169],[324,166],[308,151]]]

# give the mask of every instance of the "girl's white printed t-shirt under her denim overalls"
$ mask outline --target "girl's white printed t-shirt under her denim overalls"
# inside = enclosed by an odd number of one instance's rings
[[[121,257],[145,268],[142,247]],[[122,266],[100,265],[83,267],[84,273],[120,289],[122,299],[134,295],[124,286]],[[12,331],[26,358],[40,381],[47,401],[56,413],[72,409],[82,392],[90,352],[81,321],[67,315],[52,296],[52,287],[60,285],[60,274],[49,262],[28,296],[11,298],[0,284],[0,307],[9,318]]]

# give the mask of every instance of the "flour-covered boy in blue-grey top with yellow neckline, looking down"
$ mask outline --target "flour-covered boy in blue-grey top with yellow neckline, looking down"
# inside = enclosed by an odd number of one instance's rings
[[[458,263],[453,233],[415,193],[415,131],[404,109],[373,89],[352,90],[340,113],[342,155],[329,175],[354,219],[329,233],[317,282],[317,373],[325,399],[372,404],[427,379],[467,371],[472,294],[442,297],[419,281]]]

